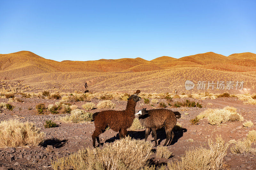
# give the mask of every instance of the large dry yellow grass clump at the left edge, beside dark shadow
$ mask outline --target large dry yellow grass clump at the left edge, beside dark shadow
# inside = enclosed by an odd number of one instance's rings
[[[0,147],[37,146],[43,141],[44,133],[33,123],[13,119],[0,123]]]

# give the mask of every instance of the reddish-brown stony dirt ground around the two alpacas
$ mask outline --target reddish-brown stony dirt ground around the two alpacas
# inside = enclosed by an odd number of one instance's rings
[[[173,99],[175,101],[183,101],[183,99]],[[185,150],[191,147],[208,147],[208,139],[211,138],[215,140],[217,135],[228,142],[231,139],[241,139],[246,137],[248,131],[255,130],[256,124],[256,109],[255,105],[244,104],[242,101],[239,101],[236,97],[223,97],[217,98],[214,100],[195,100],[189,98],[190,100],[199,101],[202,103],[202,108],[194,107],[182,107],[174,108],[167,107],[173,111],[179,111],[181,113],[181,118],[178,119],[178,122],[182,124],[183,130],[175,131],[175,137],[172,142],[172,145],[169,146],[170,151],[173,154],[173,157],[169,159],[158,159],[153,154],[152,160],[156,165],[166,164],[168,161],[175,161],[180,159],[180,156],[185,153]],[[39,115],[36,113],[36,105],[44,103],[47,107],[49,104],[54,104],[59,100],[48,100],[42,98],[22,98],[23,103],[11,103],[15,108],[10,111],[7,109],[1,110],[0,119],[18,119],[21,122],[33,122],[38,127],[45,132],[45,141],[42,145],[36,147],[17,147],[17,148],[0,148],[0,167],[2,169],[52,169],[52,161],[61,158],[63,156],[68,156],[69,154],[78,151],[81,147],[92,147],[92,132],[94,131],[93,122],[86,123],[65,123],[58,120],[58,117],[63,116],[63,114],[52,115],[50,112]],[[0,102],[7,103],[8,99],[0,99]],[[92,99],[92,102],[97,104],[100,100]],[[165,99],[159,99],[159,102],[164,101]],[[126,101],[115,101],[116,107],[114,110],[124,110],[126,107]],[[76,102],[78,108],[82,108],[81,105],[85,102]],[[212,104],[209,104],[212,103]],[[159,104],[155,104],[155,107],[158,107]],[[199,121],[199,124],[192,125],[189,120],[195,118],[202,111],[207,108],[223,108],[225,106],[232,106],[237,109],[237,112],[240,113],[245,120],[251,120],[254,125],[251,128],[243,127],[242,122],[227,122],[223,123],[220,126],[208,124],[207,118],[204,118]],[[31,107],[32,110],[28,110]],[[142,108],[152,109],[149,104],[145,104],[144,101],[137,103],[135,110],[138,111]],[[101,110],[108,109],[94,109],[90,112],[94,113]],[[186,114],[185,114],[186,113]],[[45,120],[53,120],[59,126],[55,128],[44,128]],[[132,138],[144,140],[145,129],[138,131],[131,131],[128,129],[128,135]],[[159,145],[163,145],[166,135],[164,129],[157,131],[157,141]],[[103,143],[103,146],[106,143],[115,142],[119,139],[117,132],[112,130],[107,130],[100,135],[100,140]],[[193,142],[190,142],[188,139],[193,139]],[[148,141],[152,142],[153,137],[150,135]],[[97,143],[96,143],[97,144]],[[232,146],[231,144],[230,146]],[[227,151],[227,155],[224,157],[225,169],[256,169],[256,155],[237,155],[232,154],[230,151],[230,146]],[[252,144],[252,147],[256,147]],[[156,149],[156,147],[154,147]],[[1,169],[1,168],[0,168]]]

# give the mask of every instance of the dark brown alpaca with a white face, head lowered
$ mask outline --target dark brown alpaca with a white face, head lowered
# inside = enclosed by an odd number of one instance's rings
[[[156,130],[164,127],[166,132],[166,140],[164,142],[164,146],[169,140],[170,141],[167,146],[171,145],[174,138],[173,127],[177,123],[177,118],[180,118],[179,112],[173,112],[172,110],[168,109],[146,110],[145,108],[136,113],[135,116],[136,115],[139,115],[140,124],[146,127],[145,141],[147,141],[151,129],[152,135],[155,139],[155,146],[157,146]]]

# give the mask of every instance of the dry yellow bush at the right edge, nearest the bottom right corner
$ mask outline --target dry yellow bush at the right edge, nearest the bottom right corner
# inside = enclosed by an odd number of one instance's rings
[[[248,139],[237,140],[236,144],[234,146],[231,146],[230,150],[234,154],[256,154],[256,148],[252,148],[252,143]]]

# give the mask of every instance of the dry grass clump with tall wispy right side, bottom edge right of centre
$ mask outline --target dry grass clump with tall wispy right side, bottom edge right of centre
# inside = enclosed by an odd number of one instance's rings
[[[191,169],[222,169],[223,158],[229,144],[225,144],[222,138],[216,138],[216,142],[209,139],[210,149],[191,148],[185,151],[181,161],[167,163],[171,170],[191,170]]]

